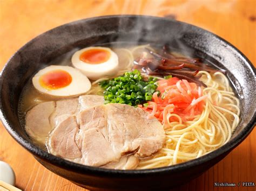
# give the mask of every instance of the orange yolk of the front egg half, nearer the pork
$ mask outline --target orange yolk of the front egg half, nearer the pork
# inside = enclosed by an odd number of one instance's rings
[[[39,78],[42,87],[48,90],[64,88],[72,82],[72,76],[61,69],[52,70]]]

